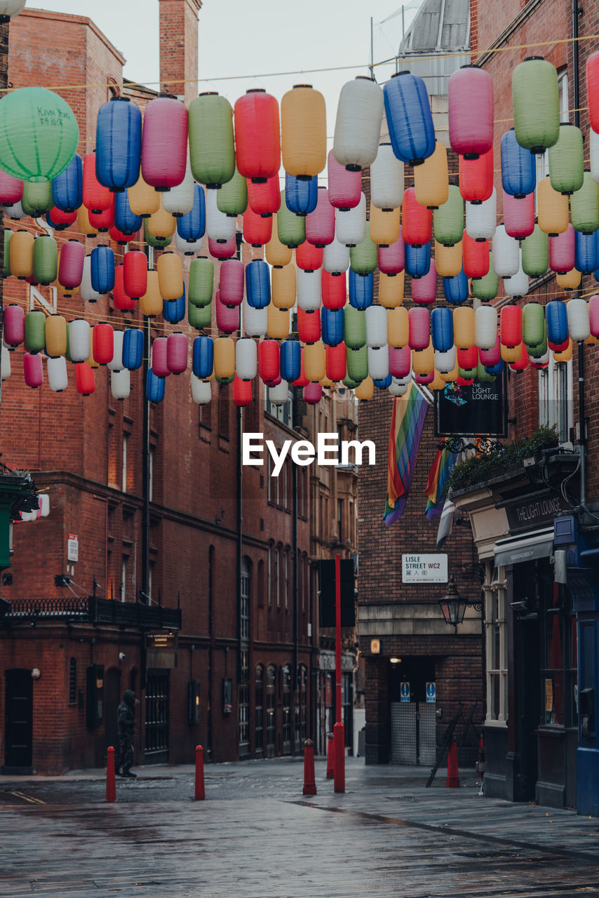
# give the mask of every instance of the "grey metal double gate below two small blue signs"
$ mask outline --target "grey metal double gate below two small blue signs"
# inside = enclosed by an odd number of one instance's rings
[[[436,762],[436,715],[433,702],[392,701],[392,764]]]

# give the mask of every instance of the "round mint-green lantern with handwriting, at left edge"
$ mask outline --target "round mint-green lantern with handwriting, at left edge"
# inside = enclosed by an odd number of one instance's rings
[[[0,101],[0,168],[14,178],[56,178],[75,155],[78,141],[77,119],[57,93],[22,87]]]

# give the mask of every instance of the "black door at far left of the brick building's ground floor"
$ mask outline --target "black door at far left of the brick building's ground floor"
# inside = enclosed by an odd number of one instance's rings
[[[6,671],[4,772],[31,773],[33,682],[31,670]],[[6,770],[10,768],[11,770]]]

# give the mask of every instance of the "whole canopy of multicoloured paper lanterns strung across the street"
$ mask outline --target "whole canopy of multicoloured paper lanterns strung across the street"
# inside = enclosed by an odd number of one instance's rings
[[[275,403],[286,401],[288,383],[316,402],[323,385],[339,381],[366,399],[374,386],[399,395],[412,377],[442,389],[455,380],[488,382],[503,365],[542,368],[550,352],[567,361],[573,342],[599,339],[599,296],[545,307],[518,302],[530,278],[547,271],[563,290],[577,289],[584,273],[599,279],[599,53],[589,57],[586,77],[588,170],[580,129],[559,121],[555,67],[541,57],[515,67],[514,128],[500,142],[499,225],[493,84],[477,66],[449,79],[457,185],[449,183],[425,84],[410,72],[383,88],[363,76],[344,85],[329,154],[324,98],[307,84],[287,92],[280,109],[261,89],[234,107],[215,92],[200,94],[189,109],[160,95],[143,117],[128,98],[115,97],[101,107],[95,150],[84,159],[75,153],[79,132],[66,101],[44,88],[10,92],[0,102],[0,203],[16,220],[45,216],[68,239],[58,246],[49,233],[6,230],[4,277],[56,286],[87,304],[111,294],[121,313],[138,307],[202,331],[211,329],[214,306],[220,336],[202,333],[191,346],[198,402],[209,401],[212,378],[233,383],[242,405],[257,375]],[[537,182],[534,154],[546,149],[549,174]],[[405,166],[413,172],[410,187]],[[326,188],[318,185],[325,169]],[[235,258],[240,216],[244,241],[265,259],[244,265]],[[71,227],[125,246],[122,264],[110,245],[86,254],[69,237]],[[129,246],[138,245],[140,232],[162,251],[155,269]],[[202,255],[206,236],[209,255]],[[187,287],[181,255],[191,258]],[[410,309],[403,305],[406,274]],[[438,277],[448,305],[435,306]],[[499,278],[510,300],[500,312],[492,304]],[[290,333],[295,310],[298,339]],[[243,336],[234,340],[237,331]],[[143,363],[144,333],[9,304],[3,379],[8,350],[20,346],[28,386],[43,383],[45,354],[50,389],[66,389],[68,362],[77,390],[89,394],[94,368],[107,365],[113,394],[125,398],[130,372]],[[154,338],[148,399],[163,399],[166,378],[187,372],[188,357],[184,332]]]

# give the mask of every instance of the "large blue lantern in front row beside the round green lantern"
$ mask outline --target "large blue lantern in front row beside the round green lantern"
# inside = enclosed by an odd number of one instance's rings
[[[141,112],[128,97],[112,97],[98,112],[96,178],[115,191],[133,187],[140,161]]]

